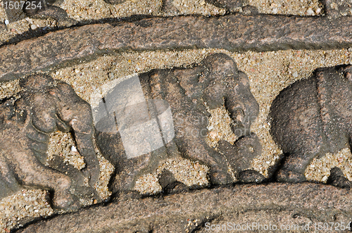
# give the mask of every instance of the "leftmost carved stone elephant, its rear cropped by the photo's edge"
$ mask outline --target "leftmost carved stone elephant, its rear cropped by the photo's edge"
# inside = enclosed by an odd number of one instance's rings
[[[0,198],[18,191],[20,185],[54,191],[53,207],[77,210],[80,198],[92,198],[99,180],[99,161],[94,151],[94,125],[87,102],[70,85],[46,75],[20,80],[23,92],[0,101]],[[73,131],[86,168],[80,176],[62,158],[46,162],[49,134]],[[67,174],[67,175],[65,175]],[[73,175],[74,177],[69,177]],[[84,177],[90,187],[84,187]],[[73,194],[71,193],[73,191]],[[99,198],[96,197],[97,200]]]

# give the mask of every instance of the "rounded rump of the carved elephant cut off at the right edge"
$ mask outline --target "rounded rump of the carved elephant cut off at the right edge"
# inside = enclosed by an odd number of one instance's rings
[[[350,147],[352,66],[320,68],[280,92],[270,107],[271,134],[288,155],[277,179],[303,182],[326,153]]]

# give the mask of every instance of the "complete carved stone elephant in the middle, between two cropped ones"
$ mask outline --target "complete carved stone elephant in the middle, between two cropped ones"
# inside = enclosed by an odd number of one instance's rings
[[[236,63],[230,56],[224,53],[214,53],[205,58],[200,65],[194,64],[193,68],[152,70],[139,75],[139,82],[142,84],[146,99],[162,99],[170,105],[175,138],[171,138],[172,141],[156,151],[128,158],[122,145],[121,131],[114,132],[116,125],[119,130],[122,130],[125,124],[115,124],[115,120],[111,120],[114,124],[108,124],[107,118],[99,120],[96,124],[96,143],[103,156],[110,160],[117,170],[115,180],[112,182],[113,187],[111,187],[113,192],[131,190],[135,180],[146,173],[155,172],[156,168],[161,165],[161,161],[166,158],[183,156],[191,160],[199,160],[210,167],[210,182],[229,184],[234,182],[229,170],[235,173],[248,170],[251,168],[253,159],[260,156],[262,148],[259,139],[250,130],[251,123],[258,115],[259,106],[251,94],[248,77],[237,69]],[[132,84],[128,87],[130,86]],[[113,106],[118,105],[118,101],[111,97],[118,96],[116,92],[120,93],[122,89],[111,90],[104,97],[106,101],[101,101],[98,107],[104,109],[108,103],[108,106],[111,106],[108,109],[111,119],[120,118],[120,115],[125,117],[127,112],[131,111],[125,108],[119,111],[118,106]],[[130,90],[125,89],[125,92],[130,92]],[[137,93],[137,91],[132,90],[132,93]],[[133,95],[130,99],[132,98]],[[230,117],[234,120],[232,130],[239,137],[234,145],[227,141],[220,141],[218,151],[208,146],[206,137],[208,137],[207,127],[210,113],[204,102],[210,110],[225,105]],[[126,104],[125,101],[122,103]],[[136,109],[137,113],[141,111],[142,108]],[[144,115],[156,114],[149,111]],[[132,117],[127,118],[130,120]],[[142,115],[139,115],[140,118]],[[161,124],[160,122],[159,125]],[[137,133],[134,132],[134,134]],[[149,137],[151,137],[150,132]],[[143,146],[142,142],[138,146]],[[253,171],[252,174],[253,179],[249,175],[244,181],[255,182],[258,177],[260,179],[257,182],[263,180],[259,172]]]

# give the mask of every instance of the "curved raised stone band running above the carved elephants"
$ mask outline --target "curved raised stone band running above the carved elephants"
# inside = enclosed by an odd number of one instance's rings
[[[220,48],[230,51],[352,46],[352,20],[278,15],[181,16],[51,32],[0,49],[0,82],[113,51]]]

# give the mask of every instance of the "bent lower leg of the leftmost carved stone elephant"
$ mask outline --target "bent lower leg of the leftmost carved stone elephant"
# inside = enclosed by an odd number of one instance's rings
[[[12,163],[19,180],[26,186],[54,190],[54,208],[77,210],[70,194],[72,181],[61,172],[45,167],[30,150],[12,152]]]

